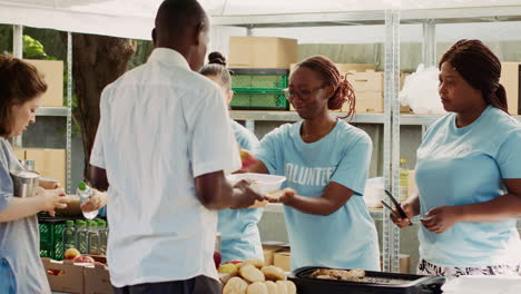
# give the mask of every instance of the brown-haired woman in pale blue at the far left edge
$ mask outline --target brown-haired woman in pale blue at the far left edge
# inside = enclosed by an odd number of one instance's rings
[[[47,84],[37,69],[0,55],[0,293],[50,293],[40,259],[37,214],[67,207],[62,188],[39,188],[32,197],[13,196],[10,170],[22,170],[10,137],[36,122],[36,109]]]

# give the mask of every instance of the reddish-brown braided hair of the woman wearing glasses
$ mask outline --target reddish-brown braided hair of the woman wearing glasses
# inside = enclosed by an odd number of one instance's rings
[[[353,86],[347,81],[347,74],[341,75],[333,61],[325,56],[313,56],[297,65],[318,74],[324,81],[323,85],[330,86],[334,89],[333,95],[327,100],[327,109],[337,110],[342,109],[345,102],[350,104],[350,109],[343,118],[350,117],[353,119],[355,115],[356,98]]]

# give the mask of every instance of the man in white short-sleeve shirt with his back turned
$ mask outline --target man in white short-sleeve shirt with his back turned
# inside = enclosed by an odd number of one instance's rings
[[[220,89],[198,75],[208,18],[196,0],[159,7],[147,63],[101,94],[91,153],[96,188],[85,209],[108,202],[108,265],[116,293],[220,293],[213,261],[217,214],[263,197],[232,187],[240,168]]]

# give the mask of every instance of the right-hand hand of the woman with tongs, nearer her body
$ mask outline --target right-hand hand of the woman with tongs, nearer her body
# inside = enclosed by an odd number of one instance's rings
[[[432,233],[441,234],[461,222],[462,213],[458,206],[440,206],[420,218],[423,226]]]

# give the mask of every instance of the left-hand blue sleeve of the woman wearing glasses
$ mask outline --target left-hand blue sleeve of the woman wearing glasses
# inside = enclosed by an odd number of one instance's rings
[[[279,129],[275,129],[264,136],[257,148],[254,148],[254,156],[263,161],[268,169],[268,174],[277,175],[277,163],[282,160],[282,151],[279,150],[281,136]]]

